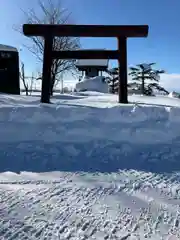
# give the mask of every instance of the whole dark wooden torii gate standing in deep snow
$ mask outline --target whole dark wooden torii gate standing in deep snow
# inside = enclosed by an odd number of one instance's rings
[[[28,37],[44,38],[41,102],[50,102],[52,59],[116,59],[119,66],[119,103],[128,103],[127,92],[127,38],[147,37],[147,25],[50,25],[24,24]],[[116,37],[117,50],[53,51],[53,38],[57,37]]]

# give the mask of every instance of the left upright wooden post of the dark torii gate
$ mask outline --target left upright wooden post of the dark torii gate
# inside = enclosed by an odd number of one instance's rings
[[[44,41],[44,59],[42,72],[42,90],[41,90],[42,103],[50,103],[52,45],[53,45],[52,36],[46,37]]]

